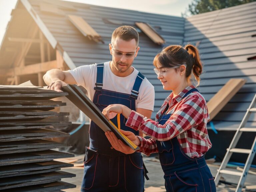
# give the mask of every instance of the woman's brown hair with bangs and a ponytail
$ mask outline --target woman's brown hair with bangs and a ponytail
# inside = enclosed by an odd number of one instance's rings
[[[165,47],[155,56],[153,61],[155,67],[157,67],[157,62],[159,62],[162,67],[178,67],[186,64],[186,78],[190,78],[193,70],[193,74],[198,82],[197,86],[199,85],[202,63],[199,51],[194,45],[188,44],[184,47],[180,45],[170,45]]]

